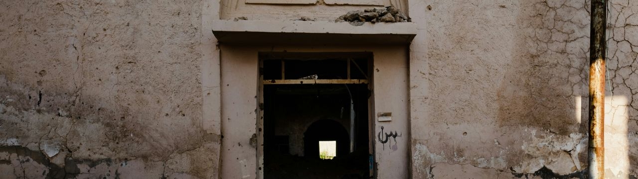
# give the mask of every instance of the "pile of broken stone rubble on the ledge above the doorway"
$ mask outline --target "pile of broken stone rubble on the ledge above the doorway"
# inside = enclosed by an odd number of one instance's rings
[[[412,20],[394,6],[368,8],[364,11],[349,11],[339,16],[335,22],[412,22]]]

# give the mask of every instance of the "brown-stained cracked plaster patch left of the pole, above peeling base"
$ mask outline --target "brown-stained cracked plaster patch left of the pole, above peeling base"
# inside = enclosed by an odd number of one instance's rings
[[[589,4],[522,3],[517,17],[521,29],[512,49],[517,56],[508,65],[497,94],[499,124],[565,136],[584,133],[587,126],[581,121],[586,113],[574,109],[587,103],[577,104],[577,98],[588,90]],[[557,14],[563,11],[574,17]],[[581,111],[581,116],[574,111]]]

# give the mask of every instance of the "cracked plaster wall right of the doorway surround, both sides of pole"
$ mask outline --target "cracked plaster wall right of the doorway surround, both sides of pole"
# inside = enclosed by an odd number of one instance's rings
[[[638,175],[638,3],[610,9],[605,168],[628,178]],[[422,25],[410,62],[413,177],[582,177],[589,10],[590,1],[410,1]]]

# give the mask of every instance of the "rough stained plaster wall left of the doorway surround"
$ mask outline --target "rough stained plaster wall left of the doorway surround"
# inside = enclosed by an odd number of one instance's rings
[[[0,1],[0,178],[217,176],[203,4]]]

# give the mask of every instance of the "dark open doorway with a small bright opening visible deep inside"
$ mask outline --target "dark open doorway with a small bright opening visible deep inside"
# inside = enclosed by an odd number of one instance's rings
[[[263,178],[370,178],[371,53],[260,54]]]

